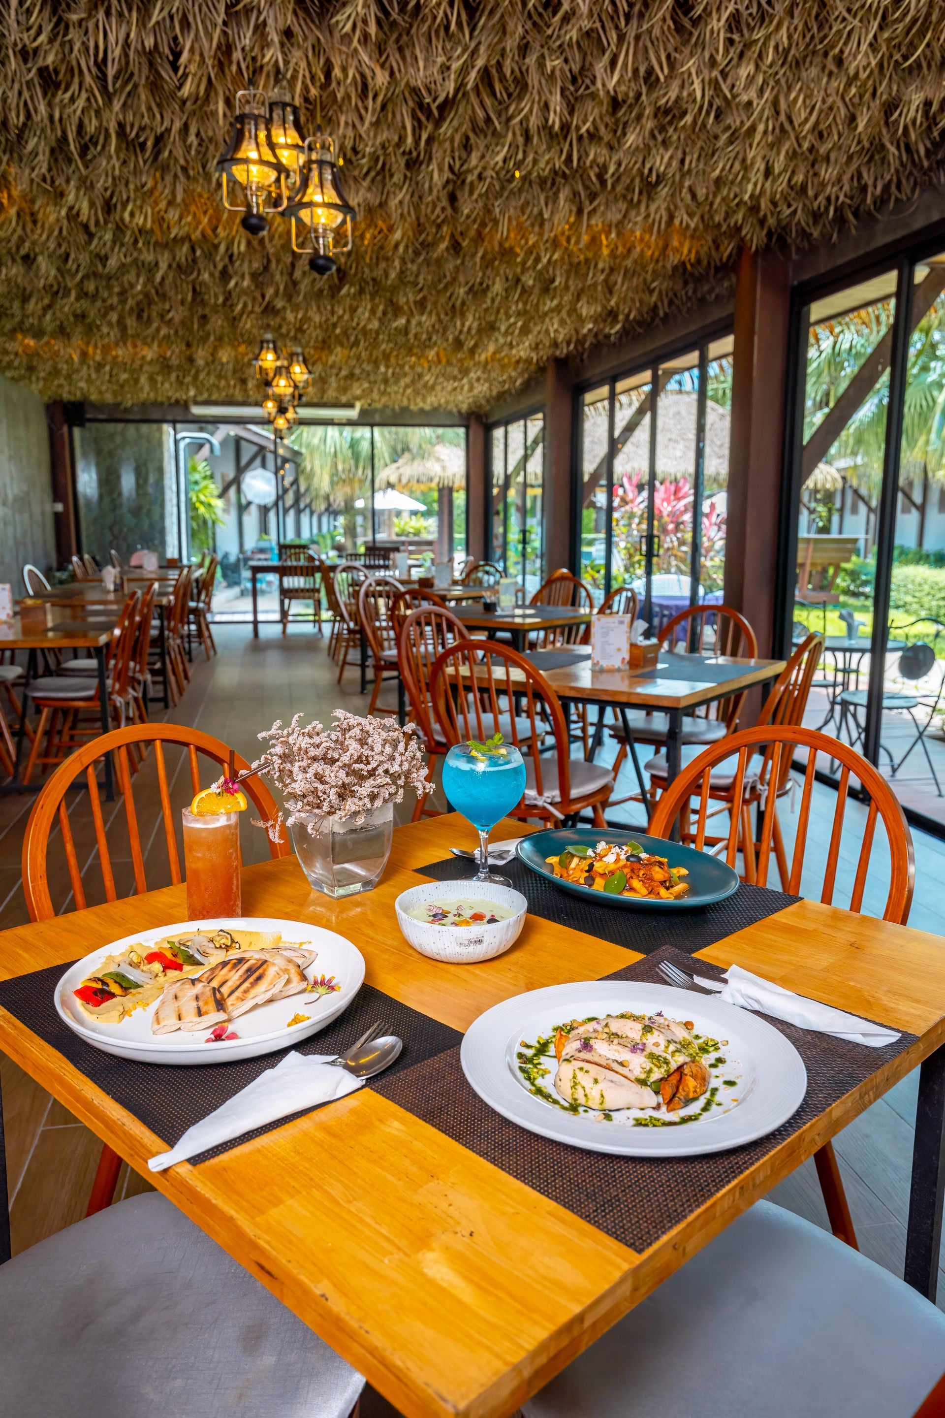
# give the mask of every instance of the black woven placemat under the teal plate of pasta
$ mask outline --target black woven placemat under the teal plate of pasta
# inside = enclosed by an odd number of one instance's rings
[[[419,866],[417,871],[418,875],[432,876],[438,882],[468,882],[476,868],[468,858],[448,856],[445,862],[431,862],[429,866]],[[766,886],[748,886],[740,882],[732,896],[714,906],[697,906],[663,915],[656,910],[608,906],[596,898],[584,900],[572,892],[562,891],[553,878],[528,871],[519,858],[513,858],[496,871],[507,876],[516,891],[521,892],[533,916],[543,916],[545,920],[557,922],[558,926],[570,926],[584,936],[596,936],[598,940],[609,940],[628,950],[639,950],[643,956],[652,954],[660,946],[674,946],[691,956],[800,900],[799,896],[768,891]]]

